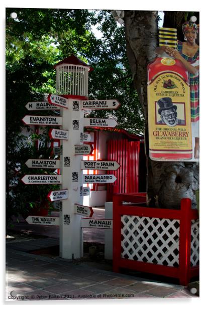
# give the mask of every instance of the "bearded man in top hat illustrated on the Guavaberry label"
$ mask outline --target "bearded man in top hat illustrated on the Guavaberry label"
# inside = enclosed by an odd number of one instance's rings
[[[171,98],[161,98],[157,101],[159,105],[158,113],[161,120],[157,124],[167,124],[168,126],[184,125],[185,120],[177,118],[177,106],[173,105]]]

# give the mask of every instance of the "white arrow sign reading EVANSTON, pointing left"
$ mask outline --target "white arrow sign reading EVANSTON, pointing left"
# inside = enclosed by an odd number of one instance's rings
[[[26,115],[22,121],[29,125],[62,125],[62,117]]]

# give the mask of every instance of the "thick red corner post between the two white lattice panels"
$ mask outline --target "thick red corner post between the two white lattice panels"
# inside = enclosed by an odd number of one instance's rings
[[[187,285],[190,279],[191,200],[181,200],[179,235],[179,281]]]

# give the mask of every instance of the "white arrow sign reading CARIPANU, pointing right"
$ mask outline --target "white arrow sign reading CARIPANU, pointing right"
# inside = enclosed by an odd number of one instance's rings
[[[85,100],[81,101],[81,109],[117,109],[118,100]]]

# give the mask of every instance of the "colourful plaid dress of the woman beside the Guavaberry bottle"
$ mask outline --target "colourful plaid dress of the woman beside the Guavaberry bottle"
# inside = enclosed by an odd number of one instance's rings
[[[199,65],[199,49],[193,57],[189,57],[182,53],[182,42],[178,41],[178,52],[192,66]],[[191,122],[199,120],[199,74],[193,75],[189,73],[190,82],[190,106],[191,106]]]

